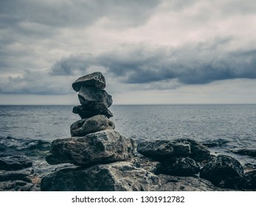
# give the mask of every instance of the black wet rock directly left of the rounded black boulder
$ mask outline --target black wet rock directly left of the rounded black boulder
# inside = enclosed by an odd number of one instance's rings
[[[190,157],[171,157],[161,162],[160,172],[176,176],[193,176],[198,174],[200,166]]]

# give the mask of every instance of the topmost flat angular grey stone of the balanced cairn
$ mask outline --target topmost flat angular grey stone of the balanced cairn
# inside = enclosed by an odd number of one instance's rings
[[[99,89],[105,88],[105,77],[101,74],[100,71],[87,74],[86,76],[79,77],[75,82],[72,84],[72,88],[75,91],[79,91],[81,86],[89,86]]]

